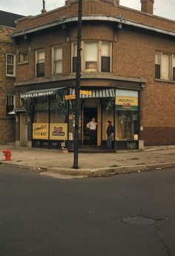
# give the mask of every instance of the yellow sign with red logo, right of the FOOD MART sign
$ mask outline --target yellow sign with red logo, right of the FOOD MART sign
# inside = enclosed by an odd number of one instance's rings
[[[50,140],[67,140],[67,123],[50,124]]]

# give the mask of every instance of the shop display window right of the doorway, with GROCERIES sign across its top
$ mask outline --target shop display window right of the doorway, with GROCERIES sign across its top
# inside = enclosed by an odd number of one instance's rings
[[[138,92],[116,90],[116,140],[138,140]]]

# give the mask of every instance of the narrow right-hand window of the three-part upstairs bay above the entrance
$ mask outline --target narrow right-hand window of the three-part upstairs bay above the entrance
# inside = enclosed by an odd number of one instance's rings
[[[102,43],[102,72],[110,72],[110,44]]]

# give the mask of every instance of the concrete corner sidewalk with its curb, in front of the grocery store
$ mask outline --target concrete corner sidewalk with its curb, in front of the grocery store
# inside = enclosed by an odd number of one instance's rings
[[[4,161],[2,149],[10,148],[11,161]],[[2,164],[23,166],[39,172],[81,177],[102,177],[132,171],[151,171],[175,167],[175,148],[157,151],[117,151],[116,153],[79,154],[79,169],[73,166],[73,153],[41,149],[16,149],[0,145]]]

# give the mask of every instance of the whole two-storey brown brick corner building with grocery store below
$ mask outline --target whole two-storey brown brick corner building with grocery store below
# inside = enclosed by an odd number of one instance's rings
[[[86,124],[99,122],[97,145],[106,145],[108,119],[117,149],[175,145],[175,22],[116,0],[83,1],[82,95],[79,140]],[[78,1],[16,24],[16,145],[73,146]],[[21,100],[20,100],[21,97]],[[22,107],[23,106],[23,107]],[[24,108],[25,107],[25,108]],[[27,109],[27,111],[26,111]]]

